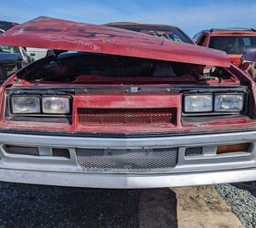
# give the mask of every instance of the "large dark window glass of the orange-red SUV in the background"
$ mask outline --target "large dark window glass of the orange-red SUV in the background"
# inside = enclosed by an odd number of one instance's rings
[[[209,47],[227,54],[243,54],[256,48],[256,36],[211,36]]]

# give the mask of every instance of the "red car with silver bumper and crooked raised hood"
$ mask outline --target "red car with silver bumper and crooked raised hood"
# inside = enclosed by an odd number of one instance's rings
[[[226,53],[48,17],[0,44],[55,50],[1,86],[0,181],[255,181],[255,82]]]

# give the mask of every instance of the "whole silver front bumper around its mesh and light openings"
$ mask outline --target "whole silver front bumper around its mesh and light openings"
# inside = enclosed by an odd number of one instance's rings
[[[249,151],[216,154],[218,145],[251,143]],[[158,138],[89,138],[0,133],[0,181],[92,188],[160,188],[256,181],[256,131]],[[40,156],[10,155],[5,145],[37,146]],[[66,148],[70,159],[52,157],[50,148]],[[178,148],[176,167],[158,172],[85,171],[75,148]],[[203,154],[186,158],[188,147]],[[49,153],[48,153],[49,152]]]

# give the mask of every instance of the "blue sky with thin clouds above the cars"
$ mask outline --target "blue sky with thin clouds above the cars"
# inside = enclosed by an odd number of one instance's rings
[[[255,27],[254,0],[1,0],[0,20],[52,16],[101,24],[133,21],[176,25],[190,36],[211,27]]]

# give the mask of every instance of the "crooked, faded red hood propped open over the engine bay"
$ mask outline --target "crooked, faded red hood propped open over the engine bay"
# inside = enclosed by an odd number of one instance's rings
[[[0,35],[0,45],[83,51],[229,67],[226,53],[109,26],[37,17]]]

